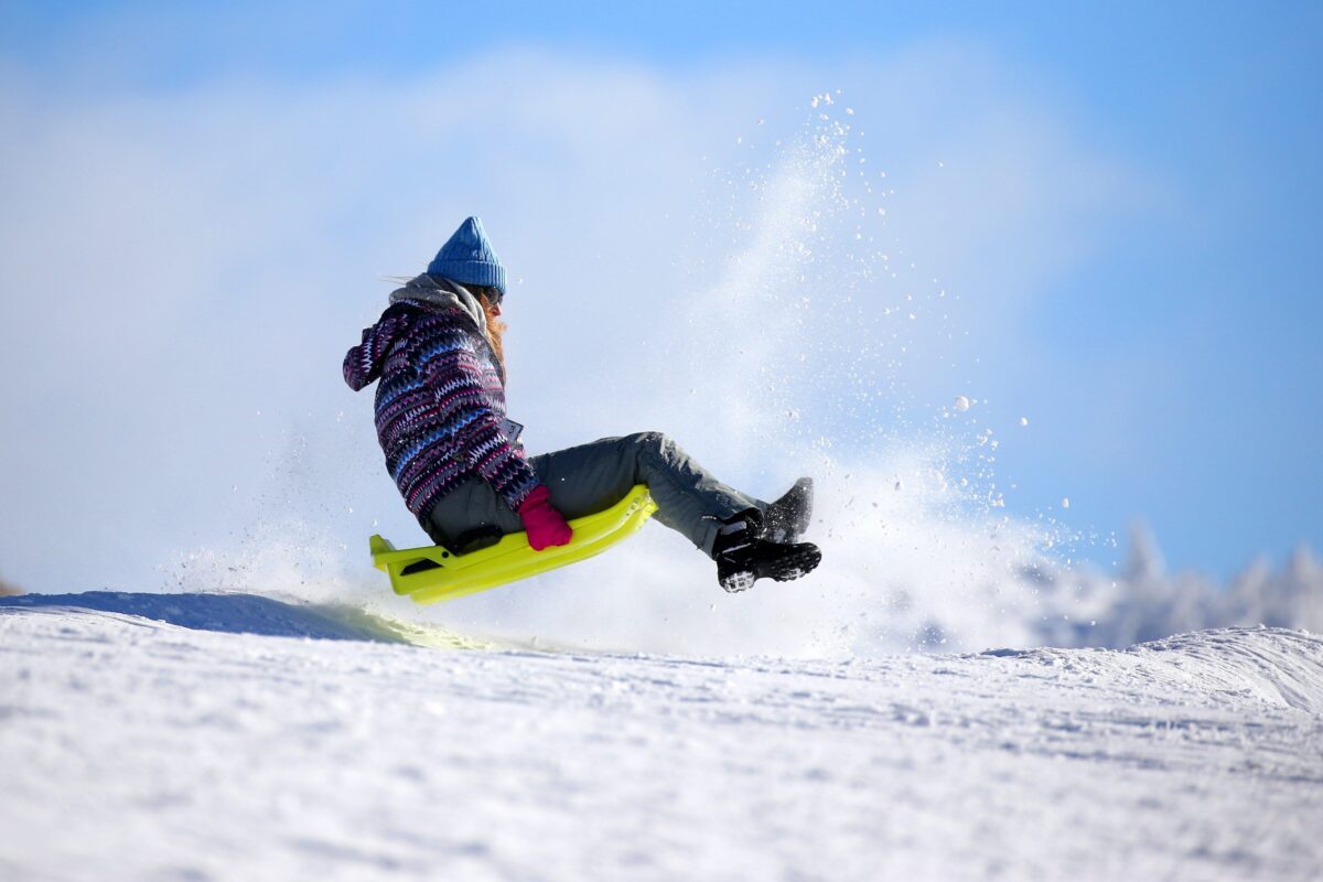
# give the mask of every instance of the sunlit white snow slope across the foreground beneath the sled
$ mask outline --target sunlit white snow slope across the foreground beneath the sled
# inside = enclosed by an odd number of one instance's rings
[[[1304,632],[710,661],[310,639],[345,624],[262,604],[294,623],[273,636],[242,602],[185,627],[79,596],[0,602],[3,879],[1323,869]]]

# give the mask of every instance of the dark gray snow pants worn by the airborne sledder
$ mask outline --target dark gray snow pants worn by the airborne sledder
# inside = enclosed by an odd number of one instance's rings
[[[656,520],[683,533],[708,557],[724,521],[767,506],[718,481],[662,432],[603,438],[531,456],[528,464],[566,520],[595,514],[624,499],[635,484],[647,484],[658,504]],[[501,533],[524,529],[519,514],[482,477],[471,477],[441,497],[423,522],[438,545],[491,526]]]

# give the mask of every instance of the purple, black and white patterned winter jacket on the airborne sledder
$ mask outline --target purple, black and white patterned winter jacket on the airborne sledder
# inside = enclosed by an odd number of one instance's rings
[[[511,508],[537,483],[505,419],[505,377],[482,305],[462,286],[421,275],[344,357],[355,391],[377,383],[386,469],[423,529],[437,501],[480,476]]]

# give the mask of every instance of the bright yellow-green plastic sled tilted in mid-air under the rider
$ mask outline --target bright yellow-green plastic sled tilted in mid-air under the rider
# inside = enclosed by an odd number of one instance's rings
[[[509,533],[488,547],[455,554],[439,545],[396,549],[380,536],[368,540],[372,563],[390,577],[396,594],[418,603],[451,600],[578,563],[632,536],[658,510],[643,484],[611,508],[569,522],[569,545],[534,551],[524,533]]]

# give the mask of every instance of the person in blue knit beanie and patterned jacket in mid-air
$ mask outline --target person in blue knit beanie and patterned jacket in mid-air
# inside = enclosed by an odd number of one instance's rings
[[[812,506],[810,479],[762,502],[718,481],[660,432],[525,456],[523,427],[505,417],[504,298],[505,268],[471,217],[423,275],[390,295],[344,358],[355,391],[380,380],[386,469],[434,542],[463,554],[524,530],[541,551],[570,541],[566,518],[601,512],[646,484],[656,520],[716,561],[726,591],[818,566],[818,546],[799,541]]]

